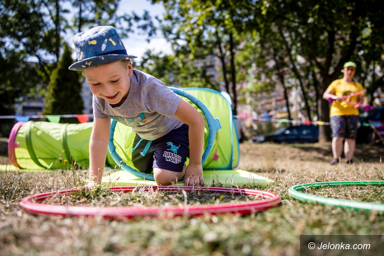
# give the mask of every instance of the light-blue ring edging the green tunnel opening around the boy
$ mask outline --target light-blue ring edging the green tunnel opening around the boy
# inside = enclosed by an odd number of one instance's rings
[[[199,99],[197,99],[195,96],[193,96],[189,92],[186,92],[183,89],[174,88],[174,87],[169,87],[169,89],[171,89],[173,92],[175,92],[179,96],[182,96],[182,97],[189,99],[193,104],[195,104],[202,111],[202,113],[205,116],[205,119],[206,119],[207,124],[208,124],[208,143],[204,149],[204,153],[202,156],[202,164],[204,164],[205,160],[207,160],[207,158],[208,158],[208,156],[212,150],[212,147],[214,145],[217,130],[221,128],[220,122],[217,118],[215,119],[212,116],[212,114],[209,112],[207,107],[205,107],[205,105],[201,101],[199,101]],[[124,163],[124,161],[118,155],[118,153],[116,152],[116,146],[113,143],[113,136],[114,136],[116,124],[117,124],[117,121],[115,121],[115,120],[113,120],[111,122],[111,130],[109,133],[109,143],[108,143],[108,150],[109,150],[113,160],[116,162],[117,165],[120,165],[120,163],[121,163],[121,168],[123,170],[132,173],[136,177],[142,178],[144,180],[154,181],[155,179],[154,179],[153,174],[143,173],[143,172],[140,172],[140,171],[132,168],[131,166]],[[181,181],[182,180],[184,180],[184,177],[181,179]]]

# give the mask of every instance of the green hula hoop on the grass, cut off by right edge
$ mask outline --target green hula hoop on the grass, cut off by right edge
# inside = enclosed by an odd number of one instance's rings
[[[333,205],[338,207],[353,208],[356,210],[375,210],[384,212],[384,203],[370,203],[362,201],[344,200],[320,197],[300,192],[306,188],[319,187],[351,187],[351,186],[384,186],[384,180],[381,181],[344,181],[344,182],[317,182],[292,186],[288,193],[291,197],[302,201],[318,202],[324,205]]]

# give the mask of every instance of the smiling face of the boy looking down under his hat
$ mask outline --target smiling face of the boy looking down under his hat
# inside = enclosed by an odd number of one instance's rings
[[[112,107],[118,107],[128,96],[133,75],[132,63],[127,66],[120,61],[83,69],[85,79],[91,92],[104,100]]]

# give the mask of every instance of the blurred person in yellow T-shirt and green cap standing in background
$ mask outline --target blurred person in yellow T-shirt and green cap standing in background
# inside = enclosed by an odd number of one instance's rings
[[[362,85],[353,80],[356,63],[348,61],[343,66],[343,78],[333,81],[323,94],[323,98],[333,99],[331,105],[332,152],[331,165],[337,164],[341,157],[344,143],[344,156],[347,164],[353,163],[356,145],[357,125],[359,120],[358,106],[345,101],[362,103],[364,94],[343,98],[343,96],[362,91]],[[344,101],[345,100],[345,101]]]

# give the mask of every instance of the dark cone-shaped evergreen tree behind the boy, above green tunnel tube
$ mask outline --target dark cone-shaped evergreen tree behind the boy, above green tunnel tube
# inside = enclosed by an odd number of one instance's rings
[[[51,81],[45,94],[46,115],[82,114],[83,99],[81,99],[81,83],[79,71],[71,71],[68,67],[73,63],[71,50],[65,44],[63,55],[58,66],[53,70]],[[72,119],[72,122],[76,122]],[[68,122],[68,119],[65,119]]]

